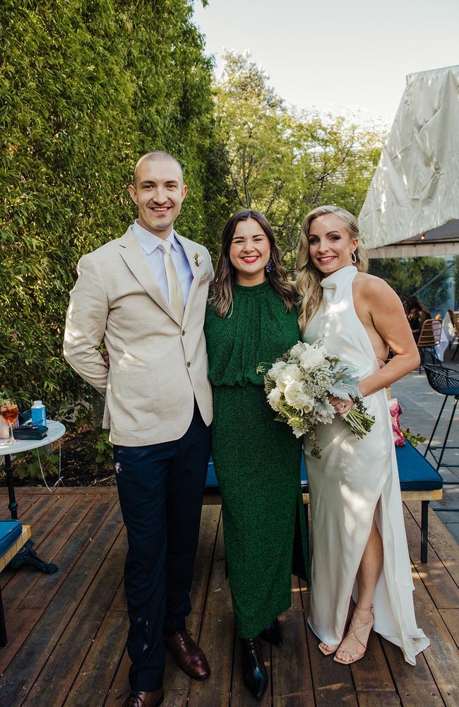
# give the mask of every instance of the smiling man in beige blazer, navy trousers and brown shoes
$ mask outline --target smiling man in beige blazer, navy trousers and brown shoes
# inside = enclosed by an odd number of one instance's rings
[[[105,395],[103,427],[129,544],[124,707],[158,707],[165,645],[191,677],[210,672],[185,617],[210,452],[203,325],[213,270],[207,249],[173,228],[187,194],[175,158],[160,151],[140,158],[129,193],[139,218],[79,262],[64,356]]]

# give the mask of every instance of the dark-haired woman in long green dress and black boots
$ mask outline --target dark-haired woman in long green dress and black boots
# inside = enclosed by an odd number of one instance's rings
[[[204,330],[228,576],[243,677],[257,699],[267,686],[260,636],[281,645],[294,544],[306,576],[302,441],[275,421],[257,373],[297,343],[297,317],[271,226],[259,211],[238,211],[223,229]]]

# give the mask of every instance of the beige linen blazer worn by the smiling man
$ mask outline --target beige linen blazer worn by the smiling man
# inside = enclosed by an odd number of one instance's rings
[[[193,275],[182,322],[163,297],[131,228],[78,264],[64,356],[105,394],[103,427],[110,428],[114,444],[136,447],[179,439],[190,426],[194,398],[204,422],[211,423],[203,332],[211,258],[199,243],[177,238]],[[98,351],[102,341],[109,369]]]

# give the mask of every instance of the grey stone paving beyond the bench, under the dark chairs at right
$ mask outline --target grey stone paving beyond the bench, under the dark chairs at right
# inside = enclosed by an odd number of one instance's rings
[[[453,362],[451,361],[453,353],[454,350],[446,351],[443,365],[457,370],[459,380],[459,354]],[[409,373],[405,378],[394,383],[391,388],[391,395],[398,399],[402,407],[402,428],[409,427],[412,433],[420,433],[429,441],[437,415],[443,404],[443,395],[430,387],[424,370],[422,370],[422,373],[418,373],[417,370]],[[436,429],[433,442],[436,445],[443,444],[453,404],[454,398],[449,397],[443,410],[441,421]],[[448,446],[450,445],[459,447],[459,404],[448,438]],[[424,453],[425,447],[426,443],[418,445],[418,449],[422,453]],[[441,450],[436,450],[437,458],[440,452]],[[430,452],[427,458],[436,467]],[[446,466],[442,466],[439,469],[441,476],[444,481],[450,483],[443,487],[443,499],[441,501],[432,501],[430,505],[456,541],[459,542],[459,448],[446,450],[442,464],[446,464]],[[448,467],[448,464],[451,466]],[[458,464],[458,467],[453,467],[453,464]]]

